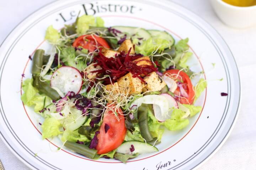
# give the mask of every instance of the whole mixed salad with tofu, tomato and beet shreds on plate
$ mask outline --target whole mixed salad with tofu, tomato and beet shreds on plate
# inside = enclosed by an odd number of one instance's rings
[[[178,131],[199,113],[207,86],[192,79],[188,39],[162,30],[104,27],[83,15],[60,31],[49,26],[50,51],[37,49],[22,102],[44,117],[42,137],[91,159],[126,162],[158,152],[164,131]],[[22,75],[24,76],[24,75]],[[60,149],[60,148],[58,148]]]

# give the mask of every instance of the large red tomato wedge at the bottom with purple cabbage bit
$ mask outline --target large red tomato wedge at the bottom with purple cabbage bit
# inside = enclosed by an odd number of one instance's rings
[[[114,108],[113,104],[107,104],[108,108]],[[126,136],[126,127],[124,124],[124,116],[122,115],[122,110],[120,108],[117,109],[117,115],[119,121],[117,120],[112,109],[108,109],[104,113],[103,123],[100,127],[100,134],[97,135],[98,144],[97,144],[97,153],[104,154],[114,149],[118,148]],[[110,128],[105,133],[105,124],[107,124]]]

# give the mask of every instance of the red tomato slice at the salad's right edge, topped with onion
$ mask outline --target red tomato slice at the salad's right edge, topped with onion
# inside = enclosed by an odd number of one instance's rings
[[[178,100],[180,100],[180,103],[192,104],[194,102],[194,89],[188,75],[185,72],[182,72],[178,69],[167,70],[166,72],[164,72],[164,74],[169,75],[172,79],[182,82],[183,89],[185,89],[185,91],[187,92],[188,97],[178,98]],[[175,90],[174,94],[175,95],[180,94],[179,87]]]

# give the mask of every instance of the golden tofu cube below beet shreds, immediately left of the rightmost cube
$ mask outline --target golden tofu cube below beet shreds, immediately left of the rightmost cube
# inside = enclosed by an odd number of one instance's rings
[[[144,83],[138,78],[133,77],[132,73],[128,73],[117,81],[120,92],[131,94],[140,94],[144,87]]]

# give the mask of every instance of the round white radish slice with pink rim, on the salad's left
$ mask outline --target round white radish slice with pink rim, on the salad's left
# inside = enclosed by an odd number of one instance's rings
[[[57,69],[51,78],[51,87],[56,87],[64,94],[69,91],[78,94],[82,88],[82,76],[78,69],[69,66],[63,66]]]

